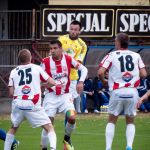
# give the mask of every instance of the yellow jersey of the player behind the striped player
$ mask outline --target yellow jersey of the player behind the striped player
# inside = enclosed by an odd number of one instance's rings
[[[69,38],[69,34],[66,34],[60,36],[59,41],[62,43],[62,48],[66,53],[74,57],[75,60],[81,63],[83,62],[87,52],[87,46],[81,38],[71,40]],[[78,71],[76,69],[71,69],[70,79],[71,80],[78,79]]]

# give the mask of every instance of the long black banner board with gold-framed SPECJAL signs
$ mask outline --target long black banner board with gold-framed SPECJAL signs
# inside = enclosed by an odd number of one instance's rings
[[[149,6],[49,6],[41,7],[42,38],[67,34],[72,20],[82,23],[81,37],[150,37]]]

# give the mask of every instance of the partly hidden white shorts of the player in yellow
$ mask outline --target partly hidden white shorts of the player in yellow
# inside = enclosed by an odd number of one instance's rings
[[[72,94],[73,99],[79,96],[79,94],[77,93],[77,81],[76,80],[72,80],[70,82],[69,92]]]

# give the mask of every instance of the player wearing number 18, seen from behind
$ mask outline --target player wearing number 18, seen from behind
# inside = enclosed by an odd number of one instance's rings
[[[111,150],[115,124],[122,111],[126,116],[126,150],[132,150],[135,135],[134,116],[140,77],[147,76],[145,65],[139,54],[128,50],[128,35],[119,33],[115,39],[117,51],[109,53],[100,63],[98,76],[106,85],[105,73],[109,71],[108,85],[111,92],[109,118],[106,126],[106,150]]]

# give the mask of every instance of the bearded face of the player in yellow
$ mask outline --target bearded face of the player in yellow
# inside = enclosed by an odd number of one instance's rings
[[[69,36],[73,39],[78,38],[78,35],[80,34],[80,26],[79,25],[70,25],[70,31],[69,31]]]

